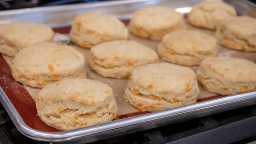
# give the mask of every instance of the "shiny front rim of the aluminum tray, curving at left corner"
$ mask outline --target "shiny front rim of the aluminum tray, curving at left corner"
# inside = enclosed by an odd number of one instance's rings
[[[7,95],[0,87],[0,101],[7,110],[16,128],[25,136],[48,142],[60,143],[89,143],[96,140],[106,139],[121,134],[132,133],[140,130],[156,128],[166,124],[178,121],[189,120],[192,118],[203,117],[206,115],[219,113],[239,107],[245,107],[256,104],[256,91],[246,92],[232,96],[226,96],[214,100],[197,102],[191,105],[176,107],[169,110],[157,111],[154,113],[137,115],[105,122],[98,125],[87,126],[80,129],[63,132],[42,132],[27,126]]]

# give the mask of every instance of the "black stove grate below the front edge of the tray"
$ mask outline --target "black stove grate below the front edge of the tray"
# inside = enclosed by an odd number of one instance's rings
[[[256,105],[91,144],[240,144],[256,140]],[[43,143],[23,136],[0,105],[0,144]]]

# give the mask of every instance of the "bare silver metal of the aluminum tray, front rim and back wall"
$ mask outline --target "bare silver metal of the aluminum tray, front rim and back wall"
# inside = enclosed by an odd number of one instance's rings
[[[52,27],[68,26],[72,23],[72,19],[75,17],[75,15],[82,12],[99,12],[115,16],[120,19],[129,19],[134,11],[150,4],[165,5],[167,7],[174,8],[176,11],[187,13],[191,10],[192,5],[200,1],[202,0],[123,0],[93,4],[75,4],[8,10],[0,12],[0,24],[19,20],[44,23]],[[249,1],[225,1],[236,7],[238,14],[256,17],[256,5],[250,3]],[[10,115],[19,132],[31,139],[56,143],[89,143],[121,134],[156,128],[158,126],[163,126],[174,122],[189,120],[192,118],[202,117],[249,105],[255,105],[256,91],[226,96],[204,102],[197,102],[191,105],[63,132],[42,132],[27,126],[1,87],[0,101],[7,113]]]

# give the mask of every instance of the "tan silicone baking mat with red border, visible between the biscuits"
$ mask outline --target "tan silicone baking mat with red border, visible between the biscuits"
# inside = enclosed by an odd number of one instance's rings
[[[186,17],[185,17],[185,20],[187,21]],[[127,25],[129,23],[129,20],[124,20],[123,22]],[[199,30],[199,31],[203,31],[204,33],[214,35],[214,31],[198,29],[190,26],[188,23],[187,23],[187,29]],[[63,44],[72,45],[72,42],[68,35],[70,27],[59,27],[59,28],[54,28],[53,30],[55,32],[55,38],[54,38],[55,42],[62,42]],[[157,45],[159,44],[159,41],[150,41],[148,39],[136,37],[135,35],[132,35],[132,34],[129,35],[129,40],[137,41],[154,50],[157,49]],[[124,90],[128,82],[128,79],[112,79],[112,78],[106,78],[98,75],[92,69],[90,69],[88,64],[90,50],[82,49],[82,48],[79,48],[78,46],[74,46],[74,47],[78,49],[80,52],[82,52],[86,58],[85,67],[87,71],[87,78],[106,83],[113,88],[114,96],[116,98],[117,105],[118,105],[118,113],[117,113],[116,119],[147,113],[147,112],[140,112],[135,107],[129,105],[129,103],[126,102],[125,99],[123,98]],[[255,53],[245,53],[241,51],[231,50],[228,48],[224,48],[220,45],[218,45],[218,48],[219,48],[218,56],[240,57],[240,58],[246,58],[253,62],[256,61]],[[40,89],[23,86],[21,83],[15,82],[15,80],[12,78],[11,71],[10,71],[10,63],[12,59],[13,58],[11,57],[2,56],[0,54],[0,86],[3,88],[4,92],[6,93],[6,95],[12,102],[12,104],[14,105],[15,109],[18,111],[23,121],[28,126],[30,126],[33,129],[37,129],[45,132],[57,132],[58,130],[44,124],[44,122],[42,122],[37,116],[37,110],[35,109],[34,100],[37,98],[38,91]],[[196,71],[197,69],[197,67],[190,67],[190,68],[193,69],[194,71]],[[222,97],[221,95],[217,95],[204,90],[202,86],[199,86],[199,87],[200,87],[200,94],[197,100],[198,102]]]

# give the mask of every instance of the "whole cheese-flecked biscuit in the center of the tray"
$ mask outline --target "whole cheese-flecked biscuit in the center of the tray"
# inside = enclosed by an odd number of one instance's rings
[[[158,62],[157,53],[135,41],[112,41],[90,50],[90,67],[104,77],[128,78],[134,68]]]

